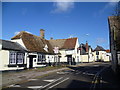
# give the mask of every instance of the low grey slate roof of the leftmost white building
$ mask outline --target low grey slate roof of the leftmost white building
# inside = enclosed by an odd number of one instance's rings
[[[5,50],[15,50],[15,51],[26,51],[26,49],[24,47],[22,47],[20,44],[18,44],[17,42],[11,42],[8,40],[1,40],[2,42],[2,49]]]

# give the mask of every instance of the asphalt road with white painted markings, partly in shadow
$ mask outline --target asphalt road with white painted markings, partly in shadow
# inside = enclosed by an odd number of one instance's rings
[[[69,70],[63,70],[42,78],[29,79],[26,82],[9,85],[3,90],[48,90],[52,88],[87,88],[94,90],[102,86],[105,87],[105,84],[107,85],[107,82],[102,80],[102,75],[109,67],[110,63],[71,66]]]

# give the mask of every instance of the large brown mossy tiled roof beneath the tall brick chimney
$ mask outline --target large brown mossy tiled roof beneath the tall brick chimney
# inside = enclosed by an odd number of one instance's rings
[[[21,31],[18,35],[14,36],[11,39],[13,40],[13,39],[20,39],[20,38],[22,39],[28,51],[53,54],[53,49],[50,43],[47,40],[42,39],[39,36],[32,35],[25,31]],[[48,46],[48,52],[44,50],[45,45]]]

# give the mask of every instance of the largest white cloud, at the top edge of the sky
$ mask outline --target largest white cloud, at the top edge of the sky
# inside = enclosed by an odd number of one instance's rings
[[[53,6],[55,7],[54,10],[52,10],[52,13],[62,13],[70,11],[72,8],[74,8],[74,2],[73,0],[67,0],[64,2],[54,2]]]

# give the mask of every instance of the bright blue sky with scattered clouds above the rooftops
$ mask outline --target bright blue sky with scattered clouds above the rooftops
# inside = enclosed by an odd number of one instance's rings
[[[3,2],[2,39],[10,40],[20,31],[45,38],[78,37],[79,43],[109,48],[108,16],[114,2]]]

